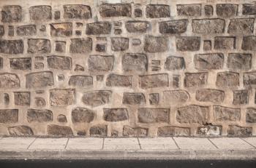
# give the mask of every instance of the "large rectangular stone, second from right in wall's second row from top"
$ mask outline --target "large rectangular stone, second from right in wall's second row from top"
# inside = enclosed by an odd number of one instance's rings
[[[194,33],[224,33],[225,20],[223,19],[194,19],[192,31]]]

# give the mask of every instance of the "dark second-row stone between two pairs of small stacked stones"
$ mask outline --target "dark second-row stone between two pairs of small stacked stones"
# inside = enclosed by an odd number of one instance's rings
[[[111,24],[109,22],[88,23],[86,25],[86,34],[99,35],[110,34]]]

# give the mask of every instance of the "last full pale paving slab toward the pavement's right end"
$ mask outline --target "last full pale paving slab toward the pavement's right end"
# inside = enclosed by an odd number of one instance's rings
[[[211,142],[217,145],[219,149],[252,149],[252,145],[244,142],[238,137],[219,137],[210,138]]]

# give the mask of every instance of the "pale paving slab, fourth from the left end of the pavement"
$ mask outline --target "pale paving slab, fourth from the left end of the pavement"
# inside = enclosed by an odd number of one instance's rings
[[[103,150],[140,150],[137,138],[105,138]]]

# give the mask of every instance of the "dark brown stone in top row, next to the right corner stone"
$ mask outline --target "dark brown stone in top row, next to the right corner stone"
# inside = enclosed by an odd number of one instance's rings
[[[233,17],[237,12],[237,4],[216,4],[216,13],[219,17]]]

